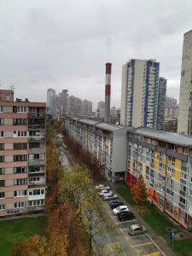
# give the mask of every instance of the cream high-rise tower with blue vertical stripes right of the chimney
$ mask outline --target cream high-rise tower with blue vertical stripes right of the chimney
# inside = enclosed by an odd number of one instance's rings
[[[163,102],[165,92],[159,90],[160,63],[155,60],[132,59],[123,66],[121,90],[121,125],[144,126],[157,129],[159,123],[158,102]],[[164,84],[166,80],[164,80]],[[161,128],[160,128],[161,129]]]

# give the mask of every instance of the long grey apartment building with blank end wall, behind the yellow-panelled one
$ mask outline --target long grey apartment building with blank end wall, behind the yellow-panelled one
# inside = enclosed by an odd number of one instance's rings
[[[65,119],[68,135],[90,155],[112,182],[125,180],[126,129],[91,119]]]

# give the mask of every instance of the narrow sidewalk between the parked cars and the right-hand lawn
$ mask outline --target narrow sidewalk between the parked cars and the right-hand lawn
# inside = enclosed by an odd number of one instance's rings
[[[118,184],[113,184],[109,182],[105,182],[105,183],[108,184],[113,190],[115,190],[115,193],[119,196],[120,201],[125,203],[125,205],[128,205],[128,207],[131,209],[131,212],[133,212],[134,215],[136,216],[139,224],[142,224],[144,227],[146,227],[146,229],[148,230],[149,236],[151,236],[151,238],[158,245],[158,247],[160,247],[160,249],[166,254],[166,256],[176,256],[176,254],[172,252],[172,249],[167,245],[165,239],[161,236],[156,235],[154,233],[154,230],[151,229],[151,227],[143,220],[143,218],[141,218],[141,216],[134,210],[134,208],[131,207],[121,195],[119,195],[119,193],[116,191],[116,185]]]

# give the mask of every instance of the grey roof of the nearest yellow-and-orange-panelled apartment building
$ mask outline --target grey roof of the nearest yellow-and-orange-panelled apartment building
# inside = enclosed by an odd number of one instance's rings
[[[129,131],[128,131],[129,132]],[[184,147],[192,148],[192,137],[168,131],[159,131],[150,128],[136,128],[130,132],[137,133],[146,137],[154,138],[166,143],[178,144]]]

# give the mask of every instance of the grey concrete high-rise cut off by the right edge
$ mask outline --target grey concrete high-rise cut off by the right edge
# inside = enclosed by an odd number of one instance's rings
[[[192,30],[183,39],[177,132],[192,134]]]

